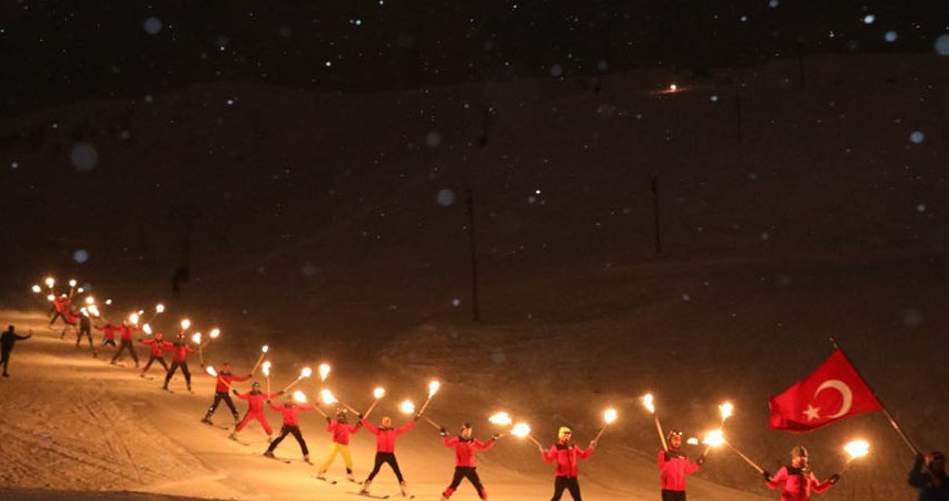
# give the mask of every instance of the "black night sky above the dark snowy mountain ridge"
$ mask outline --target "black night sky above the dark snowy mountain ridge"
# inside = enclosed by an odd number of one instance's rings
[[[366,92],[820,53],[926,53],[941,1],[226,1],[0,4],[0,113],[196,82]],[[949,40],[943,47],[949,52]]]

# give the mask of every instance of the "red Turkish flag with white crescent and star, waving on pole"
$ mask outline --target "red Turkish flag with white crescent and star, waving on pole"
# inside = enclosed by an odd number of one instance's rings
[[[856,369],[836,350],[811,375],[768,401],[774,429],[806,433],[883,408]]]

